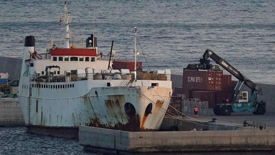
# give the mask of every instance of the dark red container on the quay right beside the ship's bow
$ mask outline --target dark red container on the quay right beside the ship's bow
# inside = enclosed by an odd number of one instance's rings
[[[178,96],[172,96],[169,106],[166,111],[166,116],[181,116],[182,112],[182,99]]]

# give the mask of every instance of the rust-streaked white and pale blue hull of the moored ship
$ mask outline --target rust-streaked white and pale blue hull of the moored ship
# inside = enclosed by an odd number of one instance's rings
[[[23,78],[22,78],[23,79]],[[26,78],[27,80],[27,78]],[[107,80],[75,81],[73,88],[50,88],[52,84],[30,82],[30,87],[22,89],[19,95],[24,120],[27,125],[37,127],[78,127],[79,125],[103,127],[125,131],[158,130],[170,102],[171,88],[145,86],[111,86],[102,85]],[[122,82],[121,82],[122,81]],[[137,83],[150,80],[139,80]],[[27,81],[26,81],[27,82]],[[128,84],[129,80],[115,80]],[[157,81],[171,84],[171,81]],[[32,84],[48,85],[48,88],[33,87]],[[38,85],[39,85],[38,84]],[[45,85],[44,85],[45,84]],[[71,85],[71,82],[70,84]],[[31,89],[31,91],[27,91]],[[31,94],[31,95],[29,95]],[[134,115],[128,114],[125,104],[131,103],[135,108]],[[145,116],[146,107],[152,103],[152,113]]]

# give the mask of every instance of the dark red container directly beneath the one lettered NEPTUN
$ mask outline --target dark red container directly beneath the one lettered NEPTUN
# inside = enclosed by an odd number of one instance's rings
[[[192,98],[208,101],[208,108],[213,108],[216,103],[215,91],[192,91]]]

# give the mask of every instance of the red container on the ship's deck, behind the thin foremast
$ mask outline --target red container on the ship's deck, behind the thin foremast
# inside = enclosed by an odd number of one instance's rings
[[[137,62],[137,68],[142,67],[142,62]],[[135,71],[135,61],[128,61],[128,60],[114,60],[113,61],[113,69],[120,70],[120,69],[129,69],[130,72]]]

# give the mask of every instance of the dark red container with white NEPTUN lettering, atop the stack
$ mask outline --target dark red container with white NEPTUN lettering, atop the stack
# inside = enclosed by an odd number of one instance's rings
[[[222,90],[222,71],[183,70],[183,88]]]

